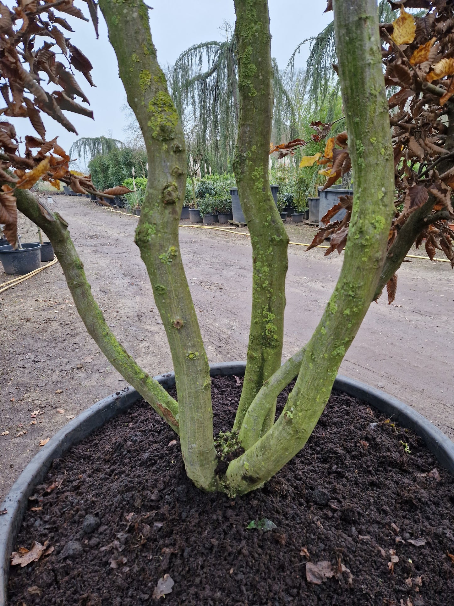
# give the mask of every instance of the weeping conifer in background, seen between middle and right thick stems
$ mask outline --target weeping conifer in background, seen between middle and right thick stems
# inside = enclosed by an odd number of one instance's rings
[[[392,10],[387,0],[381,0],[378,4],[378,18],[381,23],[390,22],[395,19],[396,12]],[[318,36],[307,38],[300,42],[295,48],[289,63],[288,72],[292,76],[295,58],[300,54],[301,47],[306,42],[310,43],[310,53],[304,73],[303,88],[304,99],[307,109],[312,116],[318,116],[318,112],[327,102],[328,111],[326,121],[335,119],[335,108],[337,100],[340,99],[340,82],[335,72],[337,67],[336,40],[334,34],[334,21],[329,23]]]

